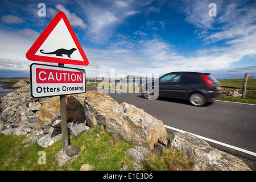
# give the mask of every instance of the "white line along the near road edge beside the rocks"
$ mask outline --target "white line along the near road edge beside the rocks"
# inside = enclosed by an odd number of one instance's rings
[[[167,127],[168,129],[171,129],[171,130],[175,130],[175,131],[179,131],[181,133],[189,133],[187,131],[183,131],[183,130],[180,130],[180,129],[175,129],[174,127],[171,127],[171,126],[167,126],[167,125],[164,125],[165,127]],[[235,147],[235,146],[231,146],[230,144],[226,144],[226,143],[222,143],[222,142],[218,142],[216,140],[213,140],[213,139],[209,139],[209,138],[206,138],[206,137],[202,137],[200,135],[196,135],[196,134],[193,134],[193,133],[189,133],[191,135],[194,135],[198,138],[201,138],[203,140],[207,140],[209,142],[212,142],[212,143],[217,143],[217,144],[220,144],[221,146],[225,146],[225,147],[229,147],[229,148],[232,148],[234,150],[237,150],[237,151],[241,151],[241,152],[244,152],[246,154],[250,154],[250,155],[253,155],[253,156],[256,156],[256,153],[254,152],[251,152],[251,151],[248,151],[248,150],[244,150],[243,148],[238,148],[238,147]]]

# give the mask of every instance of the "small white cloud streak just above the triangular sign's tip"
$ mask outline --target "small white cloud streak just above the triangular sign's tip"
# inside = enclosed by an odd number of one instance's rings
[[[67,9],[65,9],[64,6],[57,5],[56,9],[63,11],[65,13],[65,15],[67,16],[67,18],[72,26],[80,27],[83,30],[87,27],[86,23],[84,23],[81,18],[79,18],[75,13],[70,13]],[[51,11],[51,13],[53,13],[53,12]]]

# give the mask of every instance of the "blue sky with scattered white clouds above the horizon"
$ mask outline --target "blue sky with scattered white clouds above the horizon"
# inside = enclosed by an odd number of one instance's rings
[[[39,3],[46,16],[38,15]],[[216,16],[209,16],[210,3]],[[30,75],[26,52],[58,11],[89,60],[86,67],[65,66],[85,69],[87,77],[173,71],[256,77],[256,2],[245,0],[1,0],[0,77]]]

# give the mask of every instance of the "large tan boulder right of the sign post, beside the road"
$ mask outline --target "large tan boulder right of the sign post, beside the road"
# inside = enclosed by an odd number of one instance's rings
[[[119,105],[106,93],[97,90],[85,94],[86,123],[103,125],[115,139],[123,139],[150,150],[160,137],[166,137],[163,122],[134,105]]]

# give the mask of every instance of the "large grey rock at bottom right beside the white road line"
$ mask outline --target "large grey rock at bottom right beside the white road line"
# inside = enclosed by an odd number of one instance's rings
[[[193,170],[250,171],[250,168],[241,159],[210,147],[207,142],[194,135],[174,133],[170,144],[195,163],[192,167]]]

